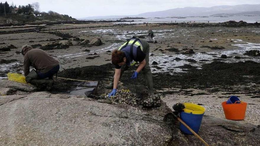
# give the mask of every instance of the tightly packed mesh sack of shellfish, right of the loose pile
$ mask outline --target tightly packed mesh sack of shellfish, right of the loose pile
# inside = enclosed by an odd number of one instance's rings
[[[160,94],[154,94],[147,97],[142,101],[142,106],[145,107],[158,107],[161,105],[161,96]]]

